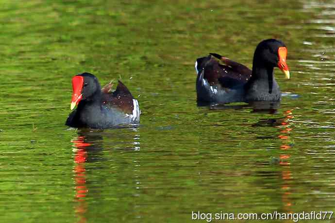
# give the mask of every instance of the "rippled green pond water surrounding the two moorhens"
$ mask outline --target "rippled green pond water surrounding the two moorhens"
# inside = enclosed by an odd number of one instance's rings
[[[335,211],[334,0],[0,0],[0,28],[1,222]],[[198,107],[195,59],[251,68],[266,38],[288,48],[278,110]],[[68,129],[84,71],[121,80],[140,126]]]

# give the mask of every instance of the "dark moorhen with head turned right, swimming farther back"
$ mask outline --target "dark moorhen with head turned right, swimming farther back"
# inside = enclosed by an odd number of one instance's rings
[[[276,39],[263,40],[253,55],[252,71],[216,53],[196,60],[197,100],[205,103],[276,102],[281,100],[273,69],[290,78],[286,65],[287,48]]]

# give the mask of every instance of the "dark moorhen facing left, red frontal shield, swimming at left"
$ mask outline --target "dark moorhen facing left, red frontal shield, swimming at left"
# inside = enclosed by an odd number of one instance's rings
[[[80,128],[105,129],[122,124],[138,124],[140,110],[128,88],[118,81],[101,89],[98,78],[90,73],[82,73],[72,78],[71,110],[66,125]]]

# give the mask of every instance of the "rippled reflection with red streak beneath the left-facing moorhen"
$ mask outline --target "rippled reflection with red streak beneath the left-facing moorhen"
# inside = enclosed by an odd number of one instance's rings
[[[74,152],[75,214],[78,218],[78,223],[87,222],[85,213],[89,208],[86,201],[89,194],[86,182],[86,165],[92,162],[107,160],[103,157],[103,153],[101,153],[103,151],[103,138],[107,140],[109,146],[112,145],[112,147],[106,149],[120,148],[119,143],[121,143],[124,146],[122,147],[124,150],[140,150],[138,128],[131,128],[132,134],[129,134],[128,130],[129,128],[126,130],[126,134],[122,134],[121,130],[121,132],[117,130],[111,130],[110,132],[81,130],[79,136],[75,136],[71,140]],[[125,146],[129,144],[131,144],[130,147]],[[93,187],[94,185],[90,184],[90,186]]]

